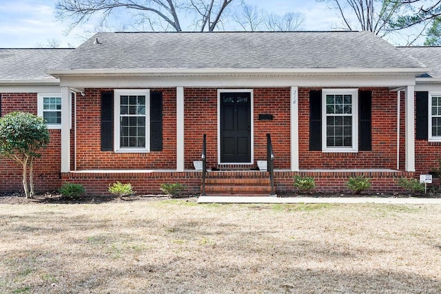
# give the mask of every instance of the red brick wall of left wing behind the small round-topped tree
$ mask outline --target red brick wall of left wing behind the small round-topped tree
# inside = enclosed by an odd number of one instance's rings
[[[37,93],[2,93],[1,114],[9,112],[30,112],[37,114]],[[38,191],[50,191],[61,186],[61,132],[50,129],[50,144],[41,158],[34,162],[34,187]],[[0,158],[0,192],[23,191],[21,165],[7,158]]]

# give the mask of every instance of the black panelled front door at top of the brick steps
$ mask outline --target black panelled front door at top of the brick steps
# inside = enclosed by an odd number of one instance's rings
[[[220,162],[251,162],[251,93],[220,93]]]

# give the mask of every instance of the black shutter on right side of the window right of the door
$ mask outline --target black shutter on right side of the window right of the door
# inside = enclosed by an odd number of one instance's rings
[[[372,150],[372,92],[358,92],[358,150]]]

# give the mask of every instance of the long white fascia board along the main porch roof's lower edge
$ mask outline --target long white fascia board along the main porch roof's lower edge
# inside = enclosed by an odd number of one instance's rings
[[[427,67],[403,67],[403,68],[133,68],[114,69],[96,68],[79,70],[48,70],[46,73],[52,76],[204,76],[223,74],[424,74],[430,69]]]

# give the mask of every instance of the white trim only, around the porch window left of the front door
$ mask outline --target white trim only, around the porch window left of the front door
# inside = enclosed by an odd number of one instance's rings
[[[145,147],[121,148],[121,95],[145,96]],[[114,152],[115,153],[147,153],[150,152],[150,90],[149,89],[115,89],[114,90]]]

